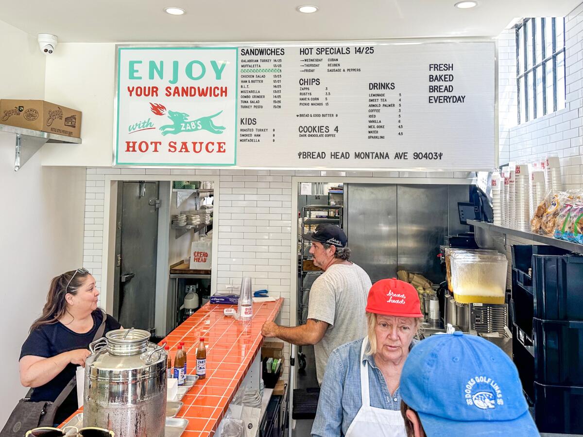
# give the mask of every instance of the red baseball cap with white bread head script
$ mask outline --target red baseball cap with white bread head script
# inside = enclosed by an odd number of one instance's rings
[[[417,290],[399,279],[381,279],[368,291],[367,312],[387,316],[423,317]]]

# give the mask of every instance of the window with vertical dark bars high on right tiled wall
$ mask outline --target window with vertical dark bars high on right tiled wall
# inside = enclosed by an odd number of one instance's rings
[[[525,18],[516,27],[518,124],[565,107],[565,19]]]

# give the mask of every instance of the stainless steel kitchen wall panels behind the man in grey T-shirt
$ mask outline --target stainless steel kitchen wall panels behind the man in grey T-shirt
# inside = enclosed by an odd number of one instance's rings
[[[397,270],[444,279],[439,246],[459,224],[457,202],[468,202],[468,185],[345,184],[344,224],[351,260],[378,281]]]

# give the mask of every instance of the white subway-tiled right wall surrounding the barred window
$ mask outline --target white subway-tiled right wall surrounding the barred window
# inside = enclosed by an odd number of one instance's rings
[[[521,125],[517,125],[515,34],[514,31],[507,30],[498,37],[500,163],[520,159],[532,161],[547,154],[556,154],[560,157],[565,189],[583,187],[582,23],[583,4],[565,17],[566,107]],[[508,57],[503,57],[503,53],[507,53]],[[512,281],[511,246],[514,244],[539,243],[508,235],[505,248],[503,245],[498,247],[508,258],[508,288],[511,288]]]

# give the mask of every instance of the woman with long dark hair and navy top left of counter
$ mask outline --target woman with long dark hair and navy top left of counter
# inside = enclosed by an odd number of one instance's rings
[[[106,316],[104,334],[120,329],[120,323],[97,308],[99,290],[86,269],[63,273],[51,281],[43,313],[30,327],[20,352],[20,383],[34,387],[32,401],[55,401],[75,376],[77,366],[85,366],[89,343]],[[61,423],[78,408],[72,390],[57,410]]]

